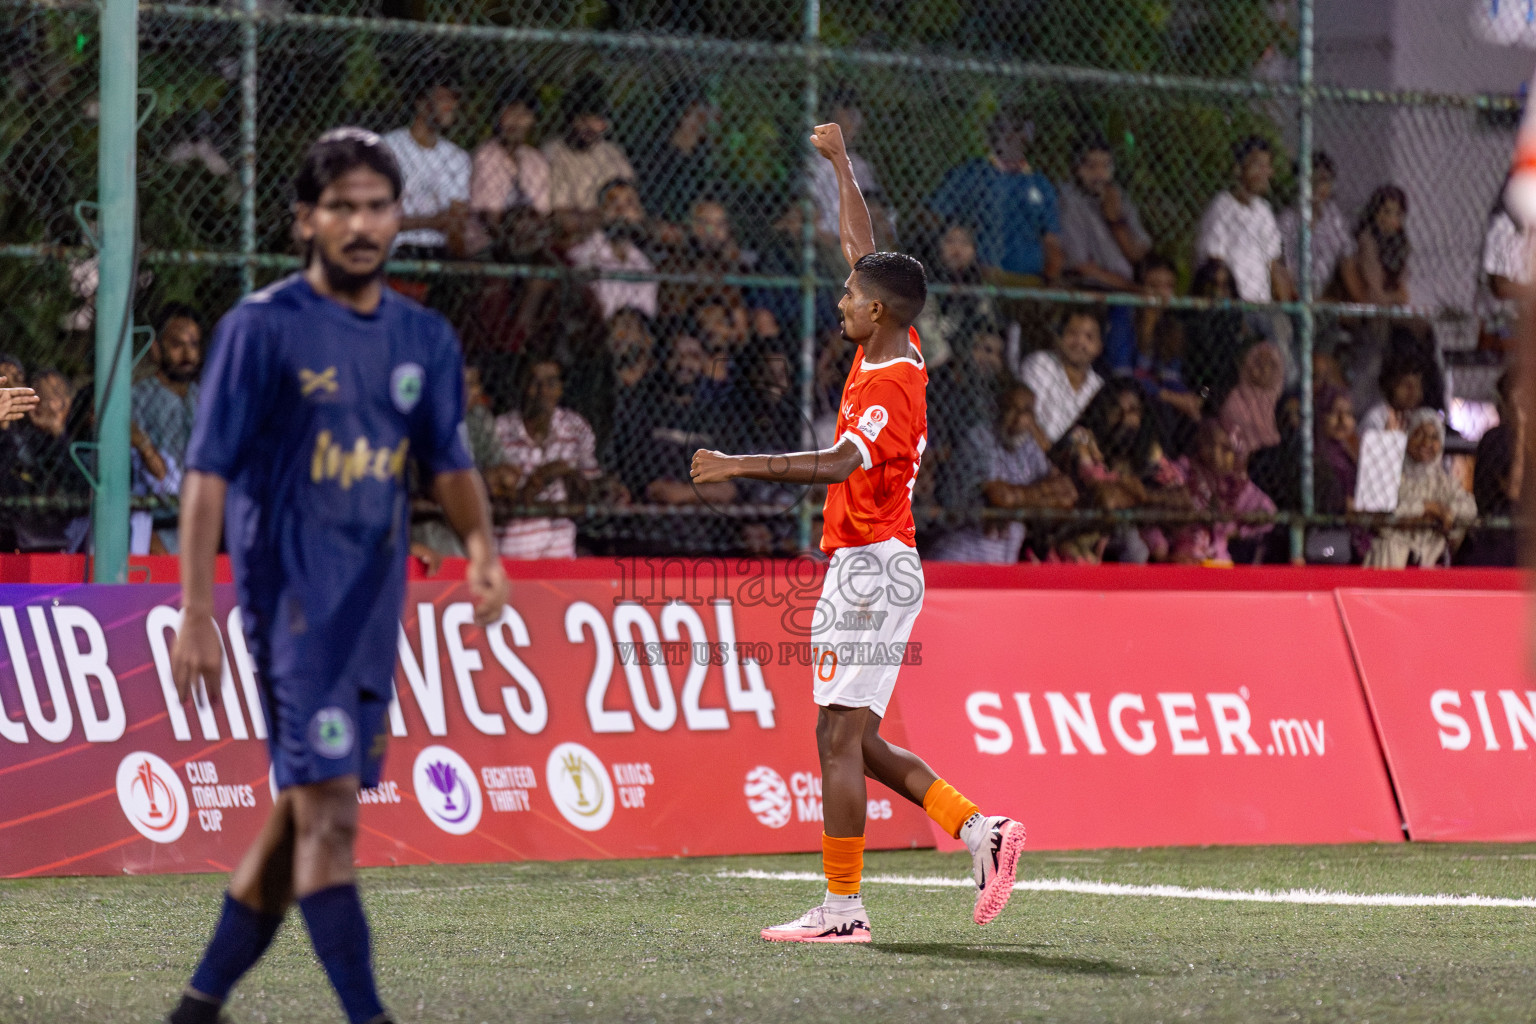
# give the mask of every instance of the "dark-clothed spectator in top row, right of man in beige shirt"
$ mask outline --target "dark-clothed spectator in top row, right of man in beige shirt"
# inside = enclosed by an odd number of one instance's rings
[[[720,187],[723,175],[713,141],[720,109],[691,78],[674,81],[662,103],[659,120],[664,130],[651,146],[636,154],[634,163],[647,206],[662,220],[679,224],[688,220],[696,197],[705,189]]]

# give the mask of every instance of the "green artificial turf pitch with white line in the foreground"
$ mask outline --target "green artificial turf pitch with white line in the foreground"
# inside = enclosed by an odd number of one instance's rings
[[[1536,895],[1531,846],[1028,854],[1021,878],[1352,894]],[[1347,907],[866,886],[871,946],[757,929],[814,857],[364,872],[379,987],[416,1021],[1528,1021],[1536,909]],[[965,877],[969,860],[872,854],[866,874]],[[0,883],[0,1021],[152,1021],[212,927],[223,878]],[[233,1021],[341,1021],[292,917],[235,990]]]

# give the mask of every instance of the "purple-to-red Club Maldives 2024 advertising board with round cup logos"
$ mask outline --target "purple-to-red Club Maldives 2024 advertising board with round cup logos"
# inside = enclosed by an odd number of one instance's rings
[[[819,585],[720,576],[674,602],[624,571],[521,580],[481,631],[462,583],[412,583],[359,861],[820,849],[809,651],[786,628]],[[272,794],[218,591],[223,706],[184,709],[177,588],[0,586],[0,875],[235,864]],[[888,731],[902,740],[895,714]],[[929,846],[928,818],[871,785],[869,843]]]

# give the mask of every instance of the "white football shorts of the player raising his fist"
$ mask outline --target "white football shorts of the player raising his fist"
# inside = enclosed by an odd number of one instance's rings
[[[883,718],[922,609],[917,548],[891,537],[834,551],[811,623],[816,703],[869,708]]]

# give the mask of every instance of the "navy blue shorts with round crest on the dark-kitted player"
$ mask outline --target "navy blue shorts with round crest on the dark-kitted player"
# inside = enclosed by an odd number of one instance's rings
[[[267,751],[278,789],[356,775],[378,786],[389,745],[389,697],[356,682],[261,680]]]

